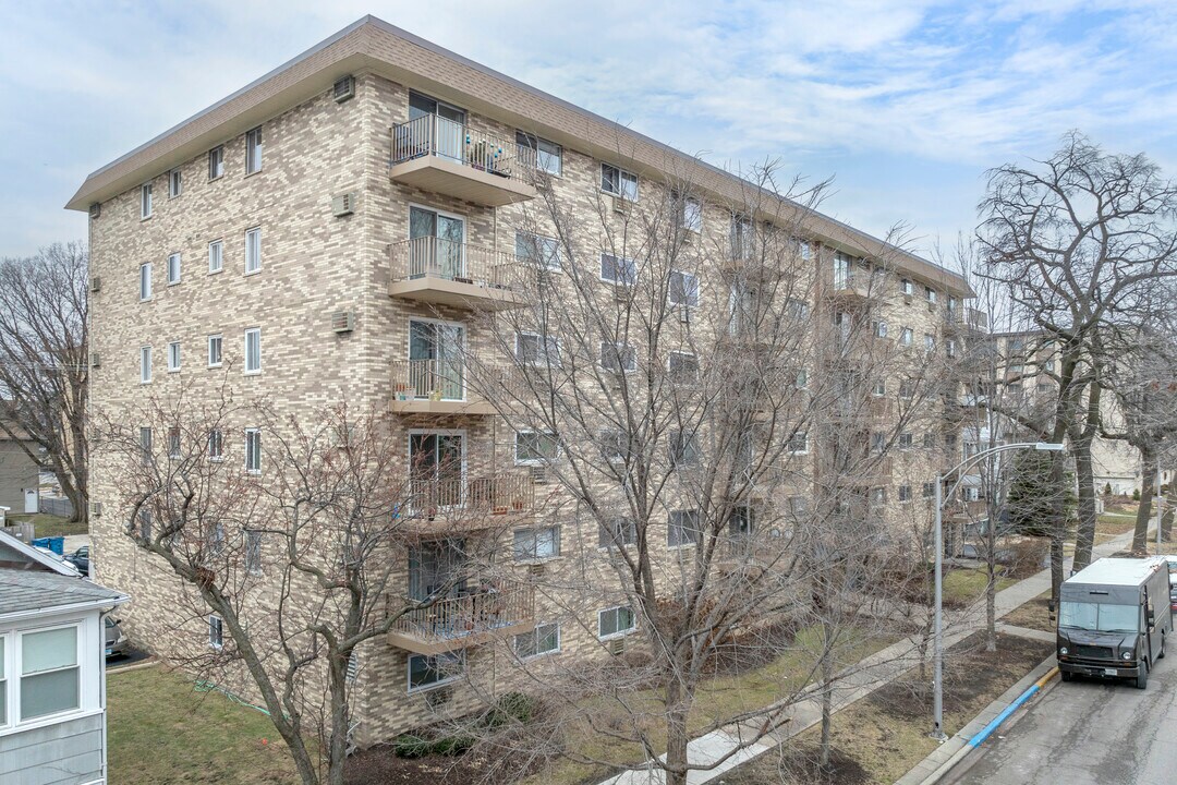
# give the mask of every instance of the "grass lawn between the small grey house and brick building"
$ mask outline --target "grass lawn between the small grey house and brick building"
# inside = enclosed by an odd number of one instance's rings
[[[293,783],[270,718],[161,666],[107,677],[109,781]]]

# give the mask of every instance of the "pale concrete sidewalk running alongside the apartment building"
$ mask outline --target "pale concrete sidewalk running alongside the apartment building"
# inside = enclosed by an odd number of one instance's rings
[[[1131,532],[1121,534],[1103,545],[1096,546],[1092,551],[1092,558],[1099,559],[1116,553],[1117,551],[1122,551],[1126,545],[1130,545],[1131,541]],[[1068,558],[1064,564],[1063,574],[1068,573],[1070,565],[1071,559]],[[997,618],[1000,619],[1010,611],[1020,607],[1049,590],[1050,570],[1043,570],[1042,572],[1035,573],[1024,580],[1019,580],[1009,588],[997,592],[995,600]],[[985,626],[984,610],[984,604],[977,603],[964,611],[946,613],[944,648],[947,650],[950,646],[964,640],[978,630],[983,630]],[[1023,632],[1020,628],[1010,628],[1009,631],[1013,634],[1020,634]],[[1032,633],[1032,631],[1025,632]],[[1052,636],[1051,639],[1053,639]],[[919,640],[917,636],[904,638],[899,643],[892,644],[886,648],[876,652],[852,667],[843,678],[839,678],[833,686],[834,711],[837,712],[852,705],[853,703],[871,694],[884,684],[887,684],[917,666],[919,664],[917,648],[918,643]],[[753,729],[760,725],[760,723],[753,720],[742,725],[729,725],[718,731],[712,731],[711,733],[700,736],[697,739],[692,739],[687,745],[687,759],[692,764],[707,765],[720,760],[724,756],[730,757],[727,757],[727,759],[723,763],[716,765],[713,769],[687,772],[686,781],[689,785],[704,785],[704,783],[718,780],[724,772],[764,754],[790,737],[793,737],[820,723],[820,696],[814,694],[814,688],[810,688],[809,693],[810,697],[806,697],[789,707],[785,712],[785,717],[789,718],[789,721],[774,733],[774,738],[764,738],[754,744],[743,746],[746,743],[743,743],[742,740],[754,738],[756,732]],[[929,711],[929,729],[930,727],[931,712]],[[947,744],[950,743],[945,743],[945,745]],[[743,749],[740,749],[742,746]],[[952,752],[955,752],[955,750]],[[951,757],[952,752],[949,752],[949,754],[945,756],[945,759]],[[925,759],[924,763],[930,763],[938,756],[939,751]],[[920,766],[923,766],[923,763]],[[919,769],[919,766],[917,766],[917,769]],[[912,771],[915,772],[915,770]],[[665,783],[665,779],[664,772],[660,769],[657,769],[651,761],[645,769],[621,772],[616,777],[603,780],[600,785],[660,785]],[[920,781],[922,779],[923,777],[916,779],[915,781]],[[910,780],[905,777],[899,781],[907,783]]]

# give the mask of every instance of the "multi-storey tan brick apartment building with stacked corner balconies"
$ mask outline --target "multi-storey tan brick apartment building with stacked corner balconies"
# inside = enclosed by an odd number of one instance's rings
[[[753,222],[785,215],[798,234],[799,279],[814,281],[797,306],[812,313],[814,342],[838,346],[852,324],[869,325],[855,357],[892,358],[883,368],[907,358],[904,367],[922,365],[925,379],[938,373],[929,358],[943,367],[958,354],[972,318],[959,275],[778,199],[764,214],[733,214],[731,205],[754,191],[749,182],[373,18],[94,172],[69,201],[91,215],[94,411],[129,417],[147,397],[184,388],[199,399],[225,382],[294,418],[338,400],[391,411],[404,430],[406,475],[426,467],[427,504],[494,517],[487,528],[504,560],[518,563],[497,591],[503,624],[459,634],[431,621],[460,616],[467,597],[441,600],[428,619],[405,617],[364,653],[361,743],[439,711],[468,711],[476,693],[503,688],[500,646],[528,658],[607,657],[638,630],[633,608],[606,590],[587,591],[573,611],[537,593],[532,578],[545,564],[558,571],[563,556],[596,552],[597,531],[584,532],[564,518],[568,505],[552,501],[560,490],[543,468],[558,448],[544,433],[505,427],[461,364],[478,355],[487,367],[510,367],[559,351],[543,334],[519,332],[512,355],[486,328],[486,318],[525,305],[514,272],[537,255],[558,267],[560,242],[570,242],[599,260],[592,274],[603,292],[624,282],[627,260],[592,251],[601,248],[598,228],[624,226],[681,181],[696,194],[683,221],[697,247],[731,248],[724,264],[680,279],[684,310],[742,266],[740,238]],[[583,205],[559,242],[556,227],[534,235],[544,188]],[[733,319],[739,297],[716,287],[709,297],[723,313],[692,319]],[[840,372],[843,361],[845,353],[796,371]],[[627,347],[616,362],[629,370]],[[856,377],[878,405],[853,425],[863,451],[887,453],[855,484],[883,523],[926,513],[935,467],[958,448],[943,403],[917,406],[913,384],[886,375]],[[226,430],[218,455],[260,471],[254,425]],[[812,445],[817,461],[820,433],[810,431],[794,434],[791,452],[805,455]],[[95,459],[92,499],[104,511],[92,519],[93,568],[134,597],[124,621],[132,637],[166,651],[174,641],[164,619],[178,588],[122,534],[120,479]],[[790,491],[802,518],[807,493]],[[660,551],[667,560],[683,545],[676,520],[672,513]],[[428,521],[420,528],[403,587],[414,598],[430,596],[464,558],[455,532]],[[257,553],[280,558],[260,541]],[[193,631],[212,645],[220,634],[214,618]]]

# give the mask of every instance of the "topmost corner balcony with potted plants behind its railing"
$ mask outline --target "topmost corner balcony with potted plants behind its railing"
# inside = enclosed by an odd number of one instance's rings
[[[388,175],[421,191],[486,207],[534,199],[534,169],[514,140],[433,114],[392,127]]]

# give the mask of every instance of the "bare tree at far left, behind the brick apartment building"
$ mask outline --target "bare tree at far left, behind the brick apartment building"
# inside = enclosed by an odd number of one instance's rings
[[[53,470],[74,520],[86,520],[88,498],[88,287],[80,242],[0,261],[0,431]]]

